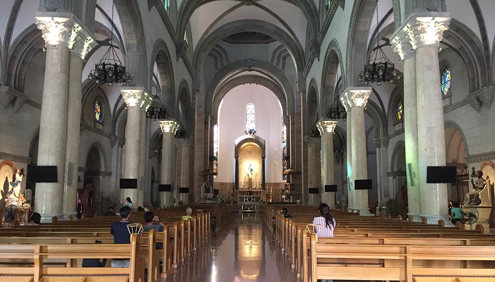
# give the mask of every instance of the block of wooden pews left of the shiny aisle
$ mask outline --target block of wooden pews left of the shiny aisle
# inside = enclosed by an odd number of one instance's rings
[[[163,232],[132,235],[131,244],[113,244],[110,225],[118,216],[2,228],[0,282],[155,282],[228,222],[234,206],[192,208],[194,217],[187,221],[186,207],[152,210],[165,224]],[[144,225],[144,212],[133,211],[129,222]],[[85,258],[107,259],[106,266],[84,268]],[[111,259],[130,259],[130,267],[111,268]]]

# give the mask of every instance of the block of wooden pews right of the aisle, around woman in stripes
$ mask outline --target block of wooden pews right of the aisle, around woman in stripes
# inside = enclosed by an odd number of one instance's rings
[[[319,279],[405,282],[495,282],[495,237],[482,228],[429,225],[426,219],[359,216],[332,210],[334,238],[317,238],[317,207],[261,208],[280,250],[303,282]]]

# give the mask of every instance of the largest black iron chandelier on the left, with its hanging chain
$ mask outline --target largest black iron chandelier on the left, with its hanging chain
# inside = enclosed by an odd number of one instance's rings
[[[112,21],[110,31],[110,46],[98,63],[95,64],[95,69],[90,72],[88,78],[99,82],[108,82],[108,85],[121,84],[128,85],[132,82],[131,75],[126,72],[125,66],[120,61],[119,55],[113,45],[113,9],[114,1],[112,1]]]

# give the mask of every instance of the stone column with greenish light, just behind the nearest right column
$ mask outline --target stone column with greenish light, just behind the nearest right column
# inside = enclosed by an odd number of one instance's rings
[[[404,141],[407,174],[408,216],[420,220],[421,200],[418,156],[418,108],[416,96],[416,53],[405,29],[393,36],[393,50],[404,62]]]

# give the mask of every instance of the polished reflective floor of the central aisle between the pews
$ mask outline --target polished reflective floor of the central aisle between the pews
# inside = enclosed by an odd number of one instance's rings
[[[212,235],[176,274],[160,282],[297,281],[260,215],[237,215]]]

